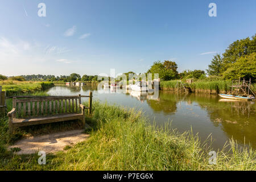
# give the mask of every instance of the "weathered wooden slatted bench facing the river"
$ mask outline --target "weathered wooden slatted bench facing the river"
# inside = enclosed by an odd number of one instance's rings
[[[81,104],[81,97],[89,97],[89,107]],[[13,109],[8,113],[9,133],[14,127],[79,119],[85,125],[85,109],[92,109],[90,96],[23,96],[13,97]]]

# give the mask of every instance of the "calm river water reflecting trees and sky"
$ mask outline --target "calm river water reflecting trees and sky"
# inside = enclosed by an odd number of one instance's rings
[[[97,87],[55,86],[51,95],[88,95],[93,92],[93,100],[109,104],[136,107],[156,125],[172,122],[178,131],[193,130],[205,140],[212,134],[213,148],[222,148],[224,143],[234,138],[239,144],[249,143],[256,148],[256,106],[250,101],[224,100],[209,94],[174,94],[159,92],[159,96],[125,90],[97,90]],[[102,93],[104,92],[104,93]]]

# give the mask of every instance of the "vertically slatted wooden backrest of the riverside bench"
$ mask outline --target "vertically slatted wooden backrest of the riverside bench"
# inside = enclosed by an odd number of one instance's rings
[[[13,98],[16,118],[81,113],[81,96],[46,96],[18,99]]]

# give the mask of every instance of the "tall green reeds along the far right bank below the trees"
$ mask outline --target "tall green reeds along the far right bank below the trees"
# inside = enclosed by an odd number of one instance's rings
[[[187,87],[191,88],[192,92],[195,93],[230,93],[232,81],[229,80],[212,80],[204,81],[197,80],[192,82],[192,84],[185,84]],[[162,90],[175,91],[176,81],[161,81],[160,87]],[[256,92],[256,84],[251,85],[251,90]]]

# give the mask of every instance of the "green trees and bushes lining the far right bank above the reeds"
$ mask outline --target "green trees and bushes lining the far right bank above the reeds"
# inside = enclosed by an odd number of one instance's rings
[[[155,61],[147,73],[159,73],[162,80],[175,80],[177,78],[215,78],[233,80],[246,78],[256,81],[256,36],[245,38],[230,44],[222,55],[214,55],[208,69],[205,71],[185,70],[177,72],[175,61]]]

